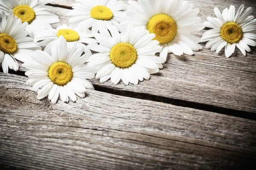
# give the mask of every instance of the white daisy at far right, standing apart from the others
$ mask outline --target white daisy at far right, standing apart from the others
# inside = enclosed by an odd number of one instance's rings
[[[220,52],[225,47],[226,57],[230,57],[237,46],[244,56],[246,52],[250,52],[250,47],[256,45],[256,20],[250,15],[252,8],[247,8],[243,14],[244,5],[241,5],[237,13],[235,6],[230,6],[223,10],[222,14],[217,7],[214,12],[217,16],[207,17],[209,22],[205,22],[205,26],[210,29],[203,34],[201,41],[209,41],[206,48],[211,51]]]

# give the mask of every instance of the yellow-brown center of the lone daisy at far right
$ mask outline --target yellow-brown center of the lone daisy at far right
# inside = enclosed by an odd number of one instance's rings
[[[221,37],[231,44],[238,42],[242,34],[242,28],[236,23],[226,23],[221,28]]]

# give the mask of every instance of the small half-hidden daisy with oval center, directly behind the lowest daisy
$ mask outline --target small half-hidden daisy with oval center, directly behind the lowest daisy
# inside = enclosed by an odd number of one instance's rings
[[[94,38],[91,38],[93,37],[93,34],[91,34],[90,30],[71,28],[67,25],[59,26],[57,29],[48,28],[41,31],[39,34],[35,35],[34,41],[41,41],[39,44],[42,47],[45,46],[44,51],[50,54],[52,44],[57,41],[60,36],[63,36],[69,45],[74,45],[75,42],[79,42],[78,46],[84,48],[84,52],[89,53],[90,55],[92,55],[90,49],[83,43],[97,45],[97,41]]]

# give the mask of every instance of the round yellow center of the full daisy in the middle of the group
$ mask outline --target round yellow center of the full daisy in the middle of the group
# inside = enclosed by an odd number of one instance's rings
[[[135,63],[137,52],[132,45],[128,43],[119,43],[111,48],[110,58],[116,67],[128,68]]]

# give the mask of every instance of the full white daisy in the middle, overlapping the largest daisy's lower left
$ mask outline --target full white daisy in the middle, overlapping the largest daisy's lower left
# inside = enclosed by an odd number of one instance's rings
[[[101,29],[94,36],[99,45],[88,45],[93,51],[98,51],[88,60],[88,65],[99,67],[96,79],[105,82],[111,78],[113,84],[120,79],[128,85],[138,84],[138,81],[149,79],[150,74],[157,73],[163,68],[163,59],[154,54],[160,50],[159,42],[152,40],[155,35],[149,34],[144,26],[133,28],[129,24],[124,33],[119,34],[116,26]]]

